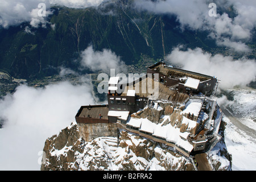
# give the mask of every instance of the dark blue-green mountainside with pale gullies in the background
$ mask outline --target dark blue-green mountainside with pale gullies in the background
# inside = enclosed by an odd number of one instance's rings
[[[94,51],[110,49],[127,65],[138,64],[144,55],[163,59],[179,45],[211,53],[227,51],[216,46],[207,31],[180,30],[175,15],[139,11],[129,2],[86,9],[51,7],[46,28],[32,28],[28,23],[1,28],[1,70],[17,78],[52,76],[60,67],[78,71],[81,51],[88,46]],[[85,68],[84,72],[92,71]]]

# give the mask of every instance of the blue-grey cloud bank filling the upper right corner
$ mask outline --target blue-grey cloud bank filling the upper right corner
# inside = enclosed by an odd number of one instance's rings
[[[233,7],[237,16],[230,18],[228,14],[209,16],[209,1],[204,0],[138,0],[134,1],[139,10],[147,10],[156,14],[172,14],[177,16],[181,30],[188,27],[191,30],[209,31],[209,37],[216,40],[218,46],[225,46],[239,52],[250,51],[246,41],[251,39],[256,26],[255,1],[217,1],[216,9]]]

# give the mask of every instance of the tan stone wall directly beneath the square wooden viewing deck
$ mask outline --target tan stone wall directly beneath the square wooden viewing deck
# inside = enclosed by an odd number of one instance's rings
[[[117,137],[117,123],[77,123],[77,126],[86,142],[97,137]]]

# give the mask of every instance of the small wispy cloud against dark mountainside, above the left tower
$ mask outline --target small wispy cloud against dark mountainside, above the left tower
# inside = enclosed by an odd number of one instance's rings
[[[110,69],[115,69],[116,73],[126,71],[125,63],[109,49],[94,51],[93,47],[89,46],[81,52],[81,57],[82,68],[89,68],[91,71],[102,71],[105,73],[109,73]]]

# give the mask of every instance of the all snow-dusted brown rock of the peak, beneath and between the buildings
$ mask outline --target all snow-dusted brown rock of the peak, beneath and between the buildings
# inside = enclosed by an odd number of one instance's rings
[[[131,117],[146,117],[154,123],[171,124],[181,133],[194,133],[194,129],[183,125],[180,109],[160,105],[146,107]],[[163,120],[162,114],[168,114],[170,119]],[[222,139],[208,154],[214,170],[231,169],[232,156],[226,150],[224,130],[222,121]],[[43,151],[41,170],[196,170],[192,158],[177,154],[175,148],[118,129],[116,123],[73,122],[59,135],[48,138]]]

